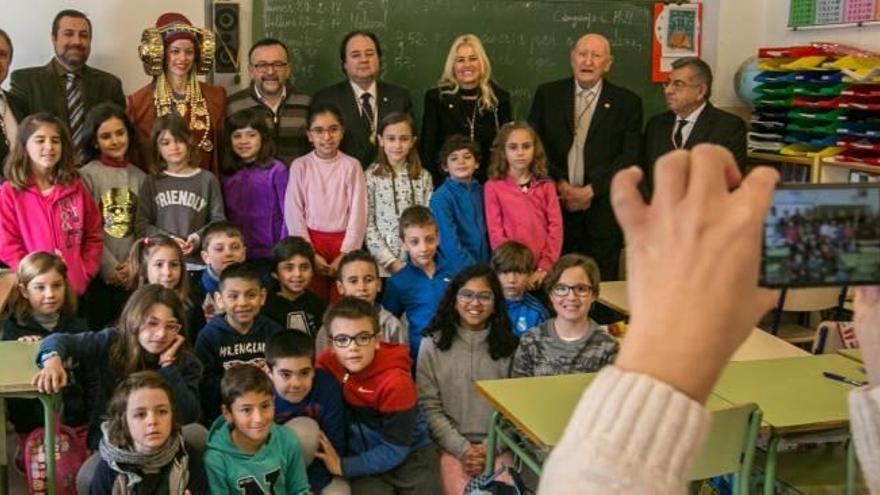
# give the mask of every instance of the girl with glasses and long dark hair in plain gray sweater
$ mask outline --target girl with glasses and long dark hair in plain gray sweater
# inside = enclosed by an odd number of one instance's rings
[[[507,378],[516,344],[498,277],[486,265],[462,270],[425,330],[416,372],[419,405],[441,450],[444,493],[463,493],[483,471],[492,408],[473,383]],[[510,465],[509,457],[497,461]]]

